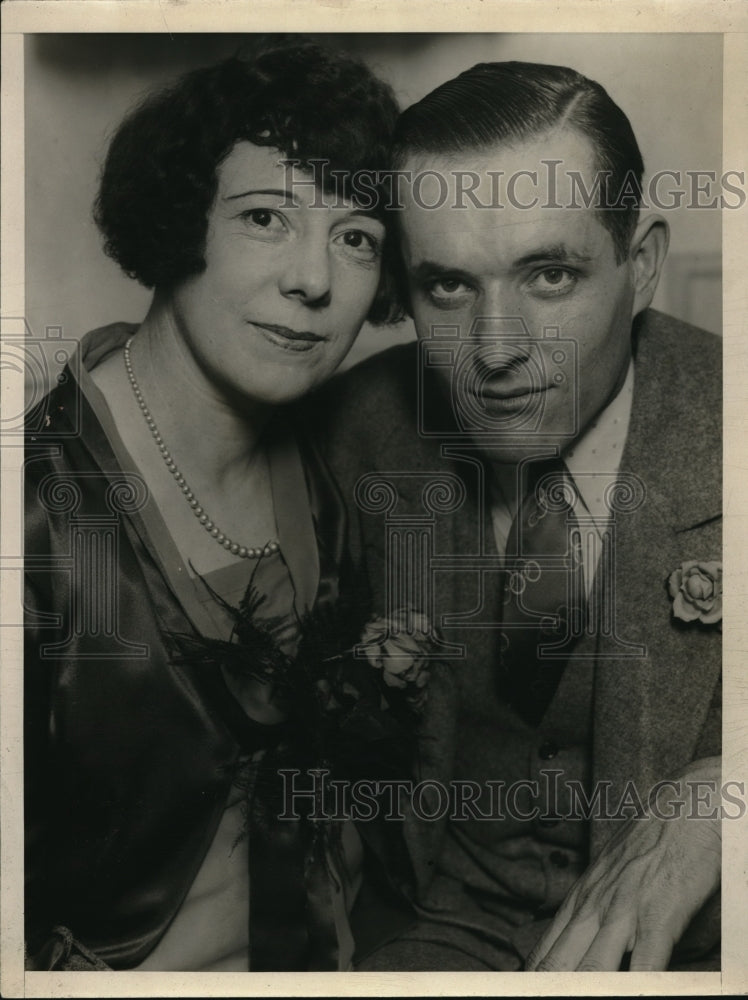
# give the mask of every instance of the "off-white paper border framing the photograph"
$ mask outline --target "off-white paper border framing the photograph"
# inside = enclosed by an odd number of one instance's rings
[[[2,35],[2,315],[24,316],[23,35],[35,32],[434,31],[718,32],[724,42],[723,163],[748,163],[748,11],[742,0],[6,0]],[[738,166],[739,169],[739,166]],[[723,775],[748,773],[748,302],[741,266],[748,211],[723,213],[725,347],[725,599]],[[13,406],[18,380],[0,370],[2,398]],[[21,390],[22,392],[22,387]],[[21,409],[23,404],[21,403]],[[13,412],[18,412],[14,409]],[[18,551],[22,449],[0,453],[0,552]],[[6,562],[6,568],[8,564]],[[12,566],[10,567],[12,568]],[[0,573],[4,610],[18,602],[14,573]],[[14,620],[11,618],[11,620]],[[392,995],[720,995],[748,990],[746,819],[724,824],[721,973],[26,973],[23,969],[21,630],[0,628],[0,993],[6,997],[85,996],[392,996]],[[501,976],[497,979],[497,976]]]

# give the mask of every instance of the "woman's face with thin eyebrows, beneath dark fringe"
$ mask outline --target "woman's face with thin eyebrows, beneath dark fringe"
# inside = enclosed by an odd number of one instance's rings
[[[379,283],[384,226],[239,142],[218,168],[205,270],[172,296],[200,370],[232,397],[285,403],[323,382],[353,344]],[[301,182],[301,183],[299,183]]]

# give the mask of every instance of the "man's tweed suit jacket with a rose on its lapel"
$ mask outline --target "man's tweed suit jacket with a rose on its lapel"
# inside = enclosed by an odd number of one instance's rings
[[[641,502],[616,517],[616,641],[585,637],[574,656],[594,664],[593,782],[609,783],[611,800],[617,801],[633,781],[646,803],[658,780],[721,752],[720,633],[676,620],[667,580],[687,560],[721,558],[722,373],[719,338],[668,316],[647,311],[632,336],[634,398],[619,471],[638,477]],[[387,565],[383,515],[372,505],[362,510],[362,477],[394,474],[393,512],[405,523],[423,516],[429,474],[458,476],[467,484],[464,499],[434,515],[433,547],[442,554],[496,554],[490,512],[481,500],[482,464],[474,456],[456,460],[438,440],[419,434],[417,366],[415,344],[385,351],[330,382],[309,409],[349,509],[353,556],[368,579],[374,606],[381,608],[394,570]],[[482,615],[489,621],[498,607],[500,585],[496,572],[433,574],[429,610],[445,638],[464,646],[464,656],[445,660],[432,681],[422,779],[448,782],[452,776],[459,738],[455,672],[470,671],[486,657],[497,663],[499,631],[479,623]],[[483,611],[473,614],[472,623],[479,627],[450,625],[450,615],[477,608]],[[623,643],[640,647],[643,655],[616,655],[630,648]],[[412,817],[406,823],[421,889],[433,871],[442,827]],[[592,857],[615,827],[615,820],[592,820]]]

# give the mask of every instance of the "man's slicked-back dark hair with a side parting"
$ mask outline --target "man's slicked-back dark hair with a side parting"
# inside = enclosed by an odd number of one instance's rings
[[[478,63],[400,116],[394,163],[410,153],[457,153],[534,139],[560,125],[592,144],[600,177],[597,208],[625,260],[639,217],[644,172],[631,124],[605,89],[566,66]]]

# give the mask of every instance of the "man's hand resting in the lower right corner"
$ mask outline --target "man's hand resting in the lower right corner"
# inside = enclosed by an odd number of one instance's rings
[[[721,758],[698,761],[625,822],[564,900],[529,971],[667,968],[673,946],[719,887]],[[700,784],[694,784],[698,782]],[[667,794],[666,794],[667,793]],[[673,819],[663,818],[674,814]]]

